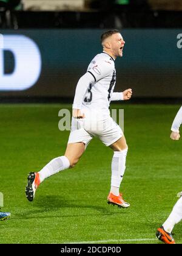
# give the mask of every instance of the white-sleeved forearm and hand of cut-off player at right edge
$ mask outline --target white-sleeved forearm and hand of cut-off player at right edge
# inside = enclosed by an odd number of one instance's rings
[[[178,111],[177,115],[175,116],[174,122],[172,123],[172,133],[170,134],[170,138],[172,140],[180,140],[180,126],[182,123],[182,107]]]

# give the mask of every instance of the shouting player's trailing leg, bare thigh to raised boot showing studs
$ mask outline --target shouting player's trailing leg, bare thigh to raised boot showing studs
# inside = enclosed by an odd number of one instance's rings
[[[30,172],[28,175],[28,183],[25,188],[25,195],[29,201],[33,201],[35,197],[35,191],[39,187],[39,184],[48,177],[63,171],[78,163],[79,158],[85,151],[84,143],[70,143],[67,145],[66,153],[62,157],[54,158],[39,172]]]

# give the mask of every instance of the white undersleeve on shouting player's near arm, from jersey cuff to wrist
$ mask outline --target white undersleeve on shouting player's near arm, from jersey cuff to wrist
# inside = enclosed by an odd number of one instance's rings
[[[76,91],[75,91],[75,98],[73,101],[73,108],[76,110],[80,110],[82,107],[82,102],[84,98],[84,94],[86,94],[87,88],[89,88],[90,84],[93,84],[95,82],[95,79],[93,78],[92,74],[87,72],[82,76],[78,84],[76,85]]]

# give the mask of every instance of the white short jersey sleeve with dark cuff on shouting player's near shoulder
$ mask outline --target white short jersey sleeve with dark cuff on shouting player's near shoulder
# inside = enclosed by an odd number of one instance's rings
[[[112,63],[112,60],[96,60],[92,61],[87,69],[87,72],[92,74],[95,82],[103,79],[104,77],[109,76],[113,73],[115,66]]]

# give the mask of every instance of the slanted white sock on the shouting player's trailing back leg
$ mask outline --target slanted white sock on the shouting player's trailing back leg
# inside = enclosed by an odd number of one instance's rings
[[[43,182],[44,179],[52,176],[53,174],[58,173],[59,171],[63,171],[70,167],[70,162],[67,157],[57,157],[50,161],[44,168],[39,171],[39,179],[40,182]]]

